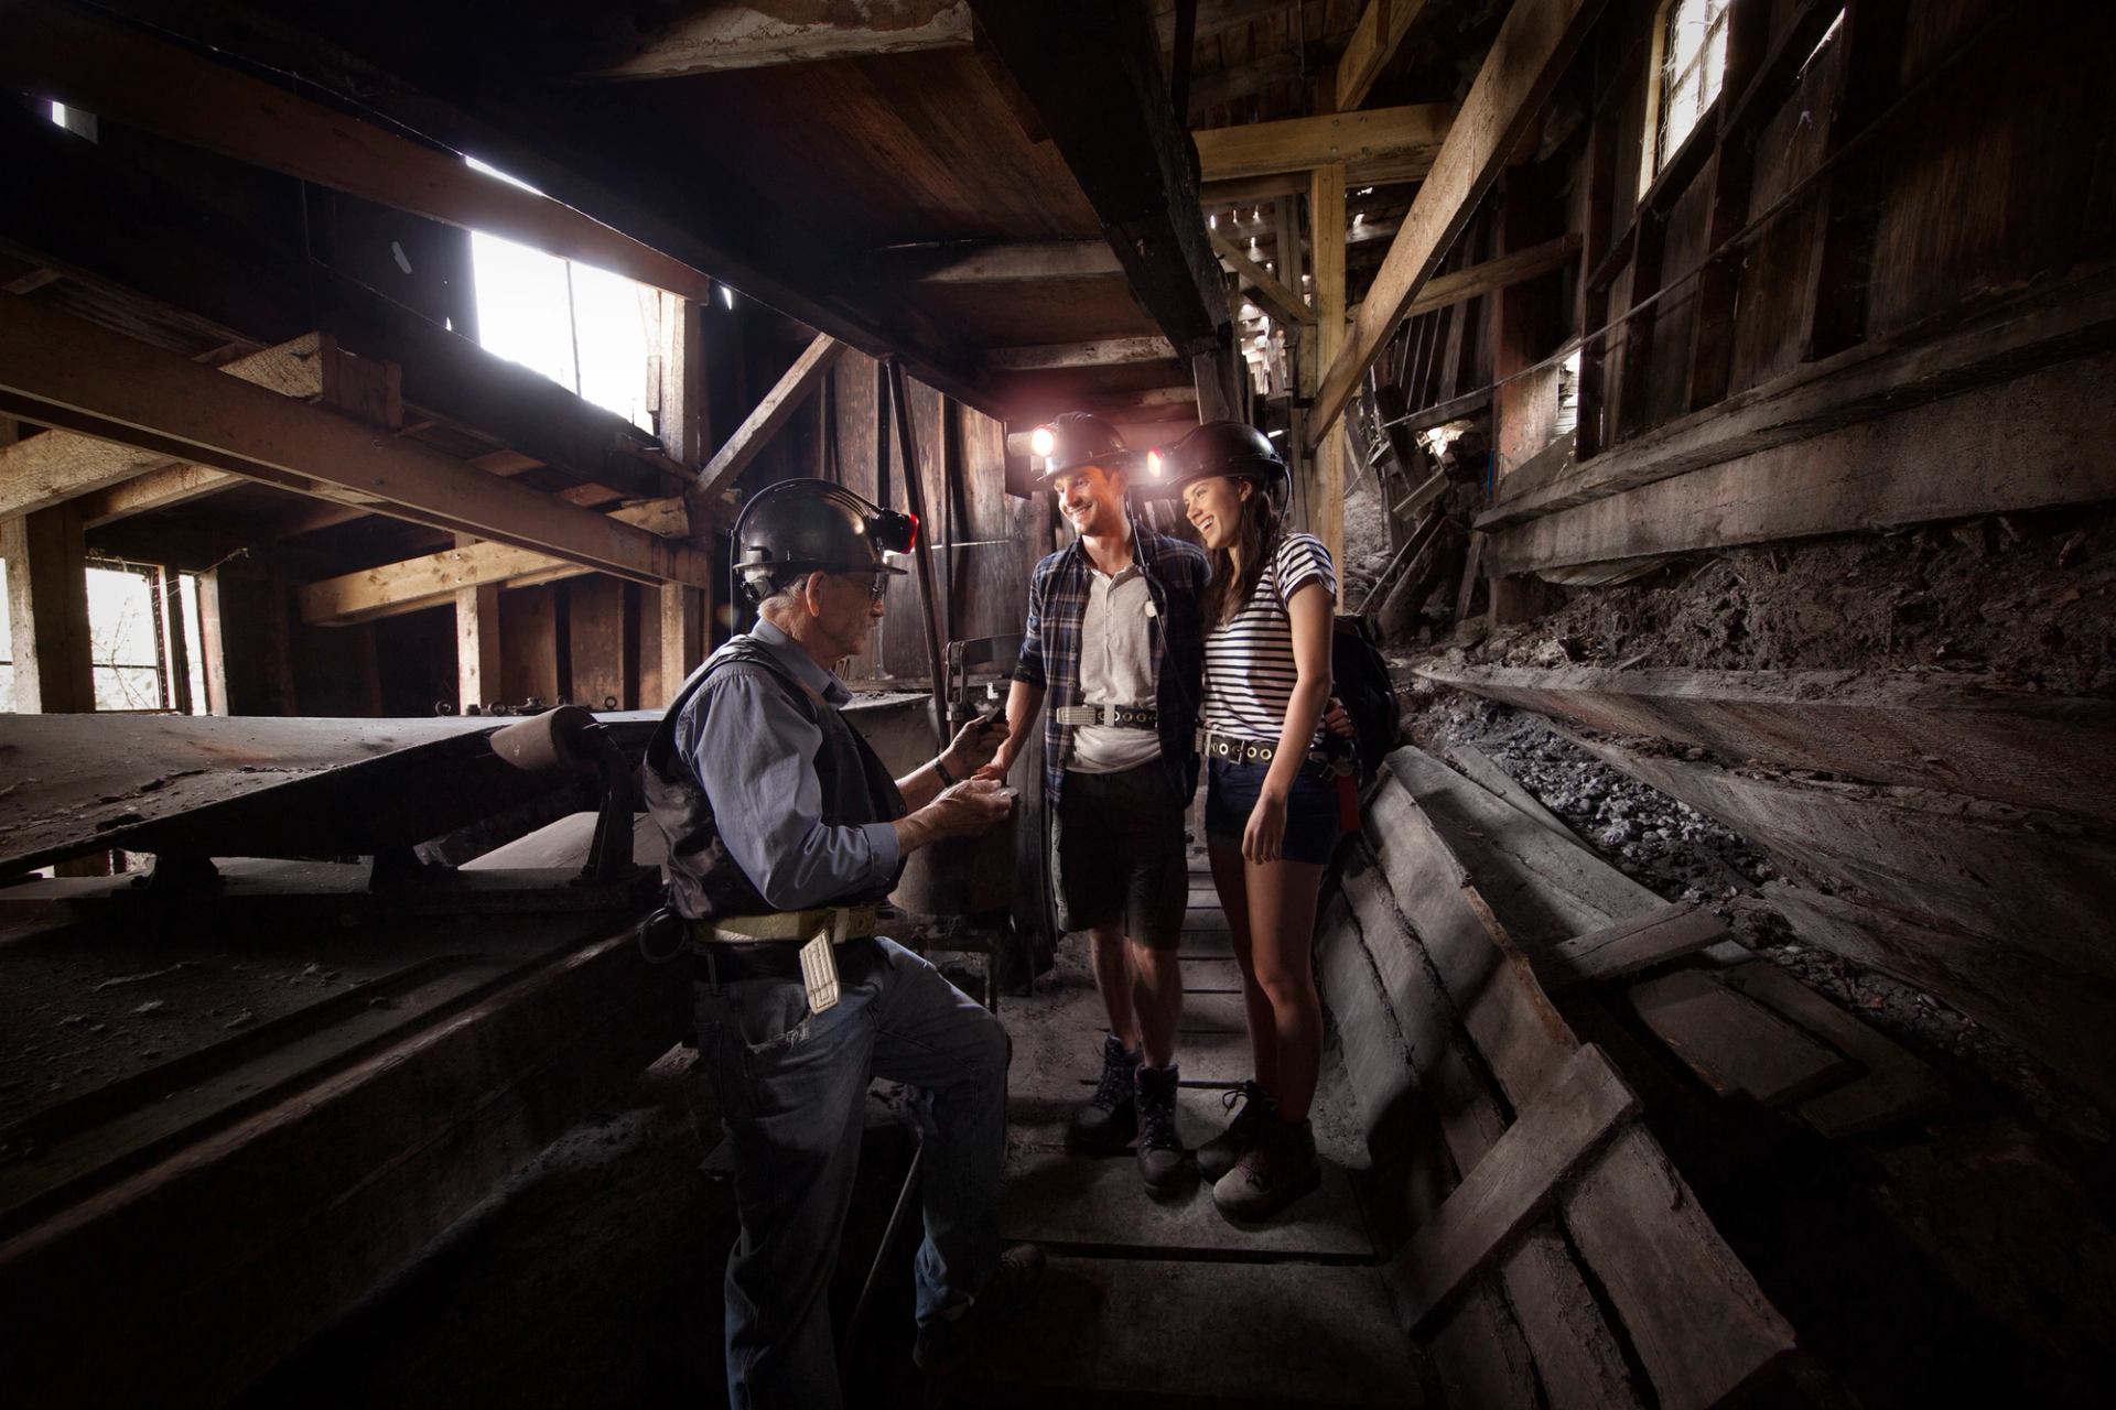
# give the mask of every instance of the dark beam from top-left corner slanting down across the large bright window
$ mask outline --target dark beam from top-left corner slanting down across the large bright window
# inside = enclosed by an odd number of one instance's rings
[[[127,25],[55,0],[23,0],[13,34],[0,49],[6,87],[686,298],[713,296],[713,281],[690,264],[550,197]]]

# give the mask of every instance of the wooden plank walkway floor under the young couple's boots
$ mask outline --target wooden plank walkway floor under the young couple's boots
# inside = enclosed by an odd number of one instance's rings
[[[1202,852],[1191,888],[1176,1125],[1196,1150],[1225,1125],[1223,1095],[1251,1057]],[[1107,1032],[1086,936],[1066,936],[1037,994],[1009,996],[1001,1019],[1014,1036],[1001,1228],[1041,1243],[1052,1273],[1035,1313],[946,1385],[946,1404],[1420,1404],[1361,1207],[1365,1148],[1335,1055],[1314,1106],[1322,1188],[1265,1224],[1236,1226],[1196,1175],[1160,1199],[1132,1152],[1064,1148]]]

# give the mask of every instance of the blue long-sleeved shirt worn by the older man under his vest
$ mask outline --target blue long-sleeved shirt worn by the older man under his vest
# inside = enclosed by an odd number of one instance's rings
[[[760,617],[749,636],[823,704],[842,708],[853,700],[844,681],[770,621]],[[772,683],[717,672],[677,719],[675,746],[705,786],[728,854],[772,907],[827,905],[895,875],[895,827],[823,822],[815,776],[823,731]]]

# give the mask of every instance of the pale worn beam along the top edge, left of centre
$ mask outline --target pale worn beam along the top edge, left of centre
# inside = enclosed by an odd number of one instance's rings
[[[681,78],[965,49],[971,42],[965,0],[851,0],[813,15],[787,15],[785,6],[711,4],[656,30],[614,38],[616,53],[597,51],[576,78]]]

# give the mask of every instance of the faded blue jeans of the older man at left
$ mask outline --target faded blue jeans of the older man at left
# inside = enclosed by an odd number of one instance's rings
[[[846,953],[863,947],[878,951]],[[874,1078],[927,1091],[918,1321],[969,1302],[999,1268],[1005,1029],[895,941],[838,953],[844,994],[821,1015],[798,979],[694,985],[743,1220],[728,1258],[734,1410],[840,1404],[827,1294]]]

